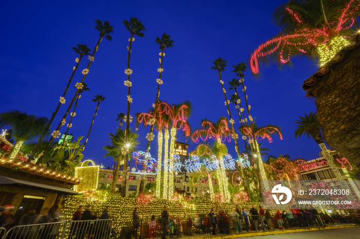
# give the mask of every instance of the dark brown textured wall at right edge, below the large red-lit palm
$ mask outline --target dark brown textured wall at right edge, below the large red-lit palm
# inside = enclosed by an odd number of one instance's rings
[[[346,53],[310,90],[326,142],[360,167],[360,46]]]

